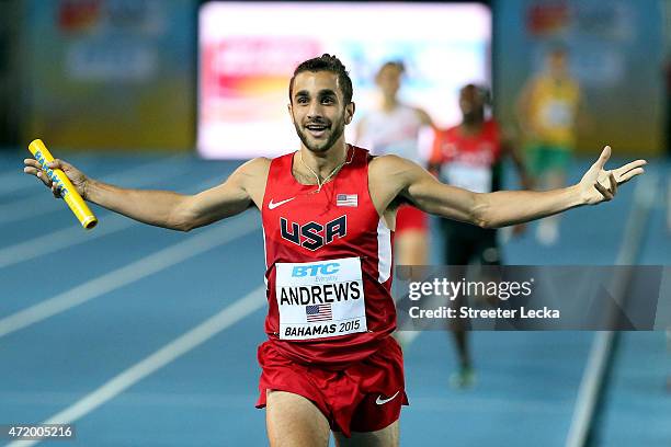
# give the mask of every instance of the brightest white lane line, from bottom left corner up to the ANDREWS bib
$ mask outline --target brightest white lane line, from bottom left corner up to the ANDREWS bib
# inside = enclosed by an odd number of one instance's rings
[[[71,424],[76,422],[124,392],[145,377],[156,373],[163,366],[217,335],[219,332],[261,309],[265,302],[265,286],[260,286],[243,298],[227,306],[215,316],[156,351],[150,356],[110,379],[100,388],[84,396],[72,405],[53,415],[46,420],[44,424]],[[39,443],[39,440],[21,440],[10,443],[8,447],[25,447],[37,443]]]

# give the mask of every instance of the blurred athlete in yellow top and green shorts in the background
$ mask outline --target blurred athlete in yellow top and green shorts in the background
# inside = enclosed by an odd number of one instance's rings
[[[567,51],[556,47],[547,55],[545,70],[526,82],[518,101],[518,119],[528,149],[530,169],[542,181],[537,185],[541,190],[566,184],[580,103],[580,85],[569,72]],[[536,236],[546,245],[557,242],[558,216],[543,219]]]

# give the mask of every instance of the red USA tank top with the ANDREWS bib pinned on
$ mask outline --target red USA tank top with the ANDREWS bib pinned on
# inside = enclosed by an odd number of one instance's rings
[[[317,193],[273,159],[261,217],[270,343],[296,362],[342,367],[373,354],[396,329],[394,232],[368,193],[365,149]]]

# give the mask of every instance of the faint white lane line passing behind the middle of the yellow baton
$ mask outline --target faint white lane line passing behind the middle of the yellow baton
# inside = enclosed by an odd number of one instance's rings
[[[147,163],[139,167],[134,167],[121,173],[107,174],[101,177],[106,183],[132,183],[129,187],[141,187],[148,184],[166,180],[166,177],[179,174],[189,168],[187,163],[174,163],[177,156]],[[25,175],[25,174],[21,174]],[[44,190],[44,185],[35,184]],[[49,191],[43,191],[44,196],[38,199],[43,203],[32,203],[33,199],[14,200],[10,204],[0,206],[0,224],[15,222],[18,220],[29,219],[32,217],[43,216],[46,213],[53,213],[60,209],[66,209],[67,205],[62,200],[57,200],[52,197]]]

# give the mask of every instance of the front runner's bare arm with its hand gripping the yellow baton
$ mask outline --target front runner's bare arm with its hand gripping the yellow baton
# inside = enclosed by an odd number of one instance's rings
[[[57,187],[34,159],[24,160],[24,172],[37,176],[56,197]],[[254,159],[239,167],[224,183],[195,195],[169,191],[123,188],[86,176],[73,165],[54,160],[52,169],[61,169],[78,193],[89,202],[132,219],[172,230],[189,231],[242,213],[252,202],[252,190],[265,179],[269,161]],[[257,191],[254,191],[254,195]]]

